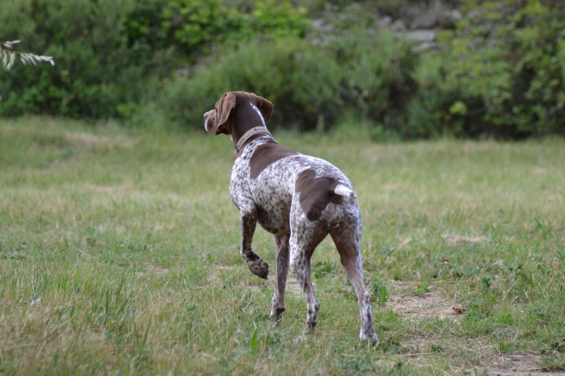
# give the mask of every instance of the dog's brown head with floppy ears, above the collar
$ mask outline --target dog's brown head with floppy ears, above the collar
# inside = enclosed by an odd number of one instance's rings
[[[204,114],[204,128],[210,133],[230,135],[234,143],[249,129],[266,126],[273,104],[250,92],[227,92]]]

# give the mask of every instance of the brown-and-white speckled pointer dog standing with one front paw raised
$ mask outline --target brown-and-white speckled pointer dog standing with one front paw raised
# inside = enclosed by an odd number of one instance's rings
[[[323,159],[279,145],[266,128],[273,112],[268,100],[247,92],[227,92],[204,114],[206,131],[230,135],[234,165],[230,194],[239,209],[242,257],[252,273],[267,279],[268,265],[254,253],[257,222],[273,234],[277,269],[270,317],[285,311],[288,266],[302,286],[308,307],[306,329],[314,331],[320,302],[310,278],[310,258],[328,234],[338,248],[361,315],[359,338],[376,343],[369,293],[363,283],[361,214],[351,182]]]

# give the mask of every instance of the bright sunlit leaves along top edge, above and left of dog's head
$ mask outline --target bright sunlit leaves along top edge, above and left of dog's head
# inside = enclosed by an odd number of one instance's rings
[[[188,61],[257,37],[303,37],[308,24],[304,8],[275,0],[255,1],[249,13],[220,0],[143,0],[124,20],[129,45],[142,56],[167,47]]]

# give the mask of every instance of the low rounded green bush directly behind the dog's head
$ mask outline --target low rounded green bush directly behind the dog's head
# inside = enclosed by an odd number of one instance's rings
[[[311,130],[333,123],[340,113],[340,82],[335,61],[303,40],[256,41],[223,54],[188,78],[174,77],[158,107],[172,121],[201,128],[203,112],[224,92],[244,90],[275,104],[273,126]]]

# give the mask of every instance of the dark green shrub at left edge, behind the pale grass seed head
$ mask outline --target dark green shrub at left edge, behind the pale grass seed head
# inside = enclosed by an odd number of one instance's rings
[[[0,39],[20,39],[53,56],[57,66],[13,74],[0,83],[0,114],[112,116],[120,100],[141,92],[142,75],[128,65],[119,37],[130,0],[13,1],[0,13]],[[132,84],[133,83],[133,84]]]

